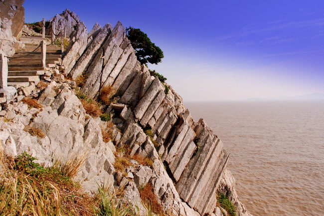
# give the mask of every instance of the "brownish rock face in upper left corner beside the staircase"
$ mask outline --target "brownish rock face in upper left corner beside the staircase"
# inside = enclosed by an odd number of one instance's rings
[[[11,57],[22,48],[19,42],[25,21],[24,0],[6,0],[0,2],[0,52]]]

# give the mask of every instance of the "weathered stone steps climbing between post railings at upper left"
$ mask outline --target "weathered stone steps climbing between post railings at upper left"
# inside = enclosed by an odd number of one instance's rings
[[[40,47],[30,55],[30,52],[34,51],[44,38],[40,36],[22,36],[20,39],[25,47],[18,53],[13,55],[8,61],[8,86],[15,88],[25,87],[29,85],[29,82],[39,82],[39,75],[45,73],[50,68],[55,68],[56,65],[60,65],[61,49],[56,45],[50,45],[50,36],[46,36],[46,68],[43,68],[41,61]],[[21,58],[16,58],[21,57]]]

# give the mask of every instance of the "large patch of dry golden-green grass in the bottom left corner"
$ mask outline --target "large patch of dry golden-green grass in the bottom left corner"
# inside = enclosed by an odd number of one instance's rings
[[[25,152],[5,158],[0,173],[0,215],[94,215],[96,202],[62,167],[43,167]]]

